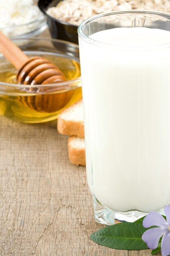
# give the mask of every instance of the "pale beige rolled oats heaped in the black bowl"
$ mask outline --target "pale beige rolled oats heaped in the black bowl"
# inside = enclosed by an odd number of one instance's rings
[[[150,10],[170,12],[170,0],[63,0],[47,10],[58,20],[79,25],[95,14],[109,11]]]

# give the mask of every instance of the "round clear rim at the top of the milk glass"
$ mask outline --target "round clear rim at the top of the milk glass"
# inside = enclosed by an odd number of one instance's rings
[[[147,11],[147,10],[128,10],[128,11],[111,11],[111,12],[105,12],[105,13],[99,13],[97,15],[94,15],[90,18],[87,18],[84,20],[78,27],[78,35],[79,38],[82,40],[86,41],[87,43],[99,46],[99,47],[107,47],[107,48],[113,48],[113,49],[118,49],[118,50],[157,50],[157,49],[164,49],[164,48],[169,48],[170,43],[166,44],[159,44],[159,45],[148,45],[148,46],[127,46],[127,45],[113,45],[113,44],[108,44],[108,43],[102,43],[100,41],[94,40],[90,38],[89,36],[86,36],[83,32],[84,27],[90,23],[91,21],[97,20],[98,18],[110,16],[110,15],[116,15],[116,14],[125,14],[125,13],[148,13],[148,14],[154,14],[155,16],[162,16],[165,18],[168,18],[170,20],[170,13],[165,13],[165,12],[159,12],[159,11]]]

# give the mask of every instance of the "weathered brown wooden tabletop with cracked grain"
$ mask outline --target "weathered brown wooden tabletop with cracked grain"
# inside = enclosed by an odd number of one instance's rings
[[[56,121],[0,117],[0,256],[150,256],[90,240],[104,226],[93,217],[85,168],[68,160],[67,139]]]

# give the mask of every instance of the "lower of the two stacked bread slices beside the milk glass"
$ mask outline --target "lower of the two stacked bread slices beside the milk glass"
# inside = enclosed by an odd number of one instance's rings
[[[75,136],[69,137],[68,156],[72,164],[86,166],[84,138]]]

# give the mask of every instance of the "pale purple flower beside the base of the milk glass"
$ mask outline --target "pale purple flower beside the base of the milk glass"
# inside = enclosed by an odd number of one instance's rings
[[[163,236],[161,240],[161,254],[162,256],[168,256],[170,255],[170,206],[166,205],[164,210],[166,220],[157,211],[151,211],[144,218],[144,227],[157,227],[145,231],[142,240],[144,240],[150,249],[156,249],[158,247],[159,239]]]

